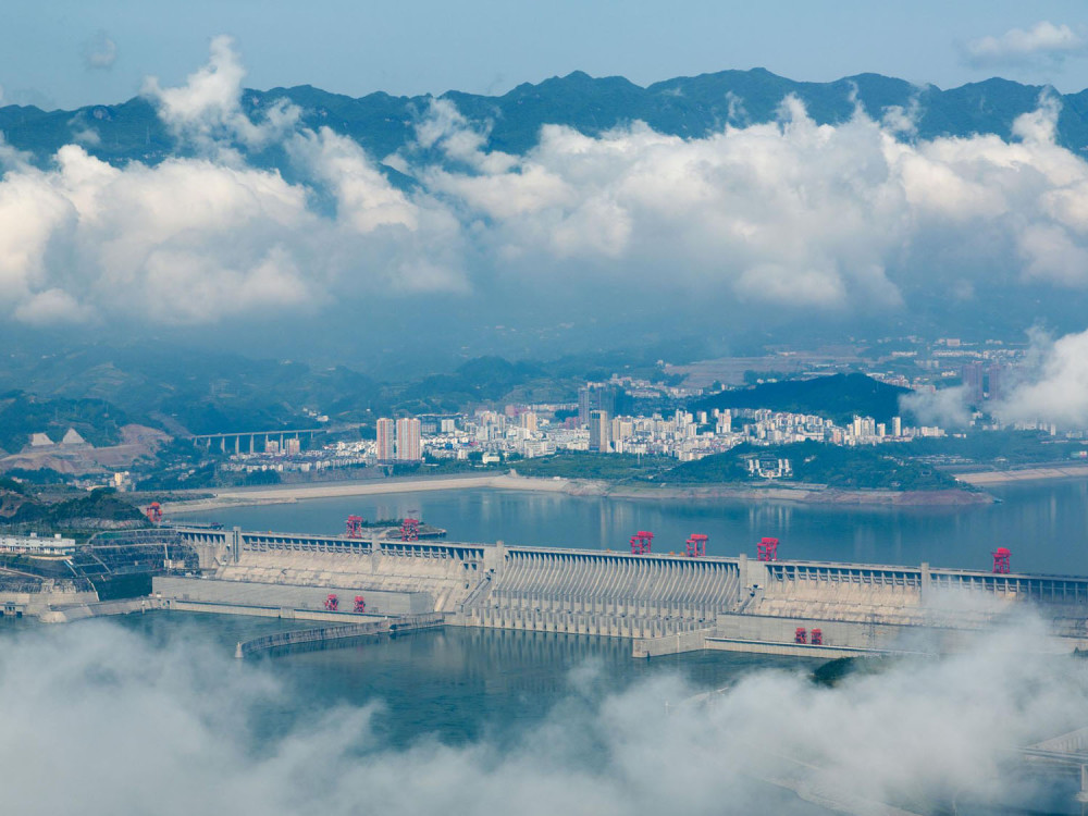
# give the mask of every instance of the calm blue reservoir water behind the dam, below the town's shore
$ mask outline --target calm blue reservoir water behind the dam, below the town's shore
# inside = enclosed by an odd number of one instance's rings
[[[489,489],[326,498],[236,507],[186,520],[244,530],[339,533],[344,519],[420,515],[452,541],[618,549],[638,530],[654,549],[682,551],[691,533],[710,536],[709,555],[755,553],[764,535],[784,558],[988,569],[998,546],[1013,568],[1088,574],[1088,481],[1036,482],[990,491],[1001,502],[967,507],[870,507],[792,502],[616,499]]]

